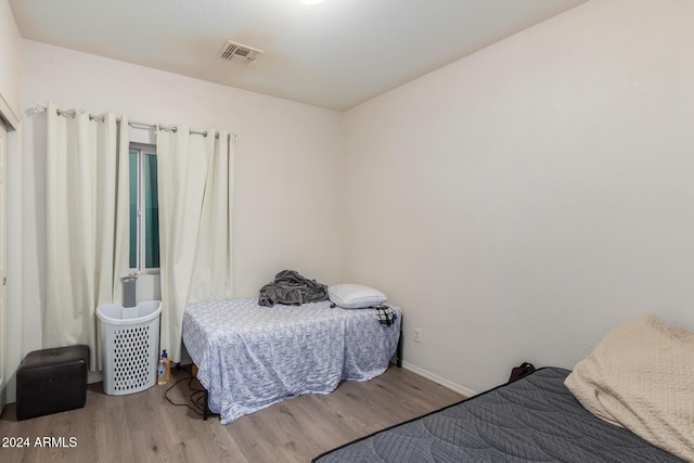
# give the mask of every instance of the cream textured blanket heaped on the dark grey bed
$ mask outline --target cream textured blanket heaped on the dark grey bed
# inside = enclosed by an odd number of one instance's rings
[[[642,316],[609,332],[565,385],[597,417],[694,462],[694,333]]]

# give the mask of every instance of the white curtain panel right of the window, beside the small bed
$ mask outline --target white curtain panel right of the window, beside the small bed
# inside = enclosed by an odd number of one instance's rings
[[[227,132],[157,130],[162,349],[181,360],[188,303],[233,295],[234,154]]]

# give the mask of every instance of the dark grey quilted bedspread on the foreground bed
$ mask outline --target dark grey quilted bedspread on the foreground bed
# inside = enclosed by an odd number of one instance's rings
[[[682,462],[588,412],[545,368],[313,459],[347,462]]]

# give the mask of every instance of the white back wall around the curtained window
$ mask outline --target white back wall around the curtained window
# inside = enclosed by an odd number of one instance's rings
[[[33,114],[31,107],[49,101],[143,123],[232,130],[237,136],[235,295],[257,296],[285,268],[329,284],[339,280],[339,113],[34,41],[22,44],[25,352],[41,347],[44,237],[50,233],[43,219],[46,114]]]

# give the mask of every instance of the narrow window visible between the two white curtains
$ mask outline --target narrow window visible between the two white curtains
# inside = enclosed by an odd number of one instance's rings
[[[130,269],[159,268],[159,201],[156,147],[130,144]]]

